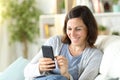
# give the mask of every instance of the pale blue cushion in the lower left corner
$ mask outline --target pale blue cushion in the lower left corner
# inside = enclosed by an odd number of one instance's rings
[[[24,80],[24,67],[28,64],[28,60],[23,57],[14,61],[2,74],[0,80]]]

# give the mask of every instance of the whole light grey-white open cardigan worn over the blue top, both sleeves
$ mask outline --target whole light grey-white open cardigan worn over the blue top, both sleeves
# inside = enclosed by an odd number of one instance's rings
[[[54,55],[57,56],[62,48],[60,36],[53,36],[46,41],[44,45],[50,45],[53,47]],[[97,48],[90,48],[87,53],[82,54],[81,64],[79,67],[79,80],[94,80],[99,73],[99,66],[102,59],[102,52]],[[45,75],[40,73],[38,68],[38,61],[43,57],[42,50],[32,59],[32,61],[25,67],[24,76],[26,80],[33,80],[36,76]],[[73,80],[70,76],[70,80]]]

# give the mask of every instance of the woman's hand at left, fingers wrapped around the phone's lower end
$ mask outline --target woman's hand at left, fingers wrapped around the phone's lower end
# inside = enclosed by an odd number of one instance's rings
[[[51,58],[40,58],[39,59],[39,70],[40,72],[51,71],[55,68],[55,61]]]

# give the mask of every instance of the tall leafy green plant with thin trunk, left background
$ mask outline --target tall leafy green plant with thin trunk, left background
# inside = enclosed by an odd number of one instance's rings
[[[24,45],[24,57],[27,58],[28,42],[34,42],[39,36],[41,12],[35,6],[35,0],[8,0],[6,6],[10,42],[21,42]]]

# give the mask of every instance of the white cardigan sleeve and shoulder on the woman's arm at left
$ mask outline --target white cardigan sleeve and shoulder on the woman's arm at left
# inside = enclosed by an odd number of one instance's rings
[[[58,36],[53,36],[48,39],[44,45],[49,45],[53,47],[54,54],[58,55],[61,47],[61,39]],[[34,78],[37,76],[44,75],[45,72],[39,71],[39,59],[43,58],[42,50],[32,59],[30,63],[24,69],[25,78]]]

